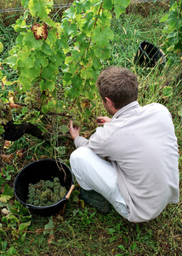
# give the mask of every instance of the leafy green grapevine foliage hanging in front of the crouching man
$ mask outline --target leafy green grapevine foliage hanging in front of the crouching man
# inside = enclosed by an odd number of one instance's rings
[[[60,22],[50,17],[53,0],[21,3],[26,11],[14,24],[18,36],[3,63],[17,71],[17,90],[33,112],[22,110],[22,121],[37,124],[41,115],[60,111],[58,76],[65,97],[93,99],[98,73],[110,57],[112,15],[119,17],[130,0],[75,1]]]

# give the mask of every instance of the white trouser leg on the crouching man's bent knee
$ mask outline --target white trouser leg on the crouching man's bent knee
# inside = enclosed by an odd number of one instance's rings
[[[127,218],[126,203],[117,184],[117,171],[110,162],[94,154],[89,148],[80,147],[71,154],[70,163],[82,189],[94,189],[103,195],[123,218]]]

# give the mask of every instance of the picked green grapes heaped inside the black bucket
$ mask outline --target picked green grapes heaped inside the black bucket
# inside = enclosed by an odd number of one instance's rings
[[[60,184],[59,177],[53,181],[41,179],[38,183],[28,186],[27,203],[37,207],[47,207],[60,201],[66,194],[65,187]]]

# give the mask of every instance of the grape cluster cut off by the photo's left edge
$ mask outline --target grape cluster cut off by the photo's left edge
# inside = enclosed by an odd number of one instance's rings
[[[12,109],[9,107],[9,104],[3,103],[3,101],[0,99],[0,125],[6,125],[12,119]]]

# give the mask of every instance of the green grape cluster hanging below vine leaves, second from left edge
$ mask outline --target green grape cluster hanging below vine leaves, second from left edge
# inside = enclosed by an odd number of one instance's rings
[[[30,108],[41,108],[41,90],[40,85],[35,84],[26,92],[25,103]]]

